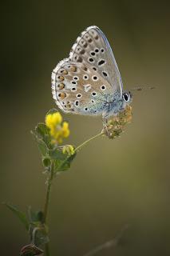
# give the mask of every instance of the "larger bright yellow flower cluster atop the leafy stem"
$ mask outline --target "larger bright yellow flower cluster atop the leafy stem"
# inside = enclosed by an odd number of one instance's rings
[[[53,142],[61,144],[62,138],[69,137],[69,123],[62,122],[62,117],[59,112],[47,114],[45,117],[45,125],[49,128]]]

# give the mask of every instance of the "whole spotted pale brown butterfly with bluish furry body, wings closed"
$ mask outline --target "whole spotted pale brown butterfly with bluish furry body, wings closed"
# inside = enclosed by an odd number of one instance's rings
[[[53,99],[66,113],[107,119],[132,102],[132,94],[123,90],[109,42],[97,26],[81,33],[69,58],[57,64],[51,78]]]

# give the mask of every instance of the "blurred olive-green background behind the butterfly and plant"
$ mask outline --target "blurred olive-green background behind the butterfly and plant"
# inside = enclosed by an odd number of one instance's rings
[[[135,92],[132,124],[121,138],[98,138],[53,183],[49,226],[52,255],[81,256],[114,238],[97,255],[170,255],[168,1],[10,1],[2,4],[1,202],[41,209],[45,176],[30,130],[54,105],[53,67],[78,34],[97,25],[109,38],[126,89]],[[78,145],[97,134],[101,118],[66,114]],[[2,255],[18,255],[29,240],[0,206]]]

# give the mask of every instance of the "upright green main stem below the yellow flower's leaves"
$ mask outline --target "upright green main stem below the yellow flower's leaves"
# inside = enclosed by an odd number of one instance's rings
[[[53,165],[54,162],[51,160],[50,168],[49,168],[49,176],[47,180],[47,189],[46,189],[46,194],[45,194],[45,206],[43,210],[43,224],[46,225],[47,222],[47,214],[49,210],[49,196],[50,196],[50,191],[51,191],[51,185],[53,181]],[[45,256],[49,256],[49,242],[45,244]]]

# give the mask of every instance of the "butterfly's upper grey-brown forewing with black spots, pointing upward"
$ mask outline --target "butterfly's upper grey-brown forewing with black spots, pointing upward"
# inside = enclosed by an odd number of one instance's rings
[[[73,62],[88,63],[122,93],[121,75],[105,34],[97,26],[89,26],[74,43],[69,57]]]

